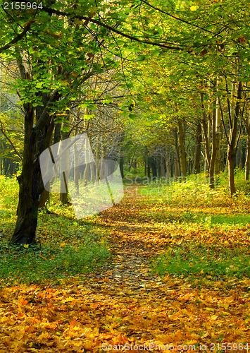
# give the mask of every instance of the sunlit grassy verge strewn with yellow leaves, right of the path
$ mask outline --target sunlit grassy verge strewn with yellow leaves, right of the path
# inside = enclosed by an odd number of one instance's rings
[[[142,186],[140,220],[168,234],[165,250],[150,260],[152,273],[194,282],[250,278],[249,184],[237,171],[237,195],[229,197],[223,178],[215,190],[201,176]]]

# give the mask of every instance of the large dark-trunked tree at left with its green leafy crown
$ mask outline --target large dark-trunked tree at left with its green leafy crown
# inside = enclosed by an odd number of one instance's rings
[[[8,12],[5,15],[11,27],[16,15]],[[22,18],[16,17],[14,27],[18,28],[27,17],[27,11]],[[8,51],[20,71],[14,89],[18,90],[25,114],[23,169],[18,176],[18,220],[11,239],[13,244],[35,242],[39,196],[44,190],[39,155],[49,147],[55,124],[66,120],[70,102],[85,95],[84,83],[94,73],[103,71],[101,66],[104,66],[94,61],[100,50],[96,32],[93,35],[89,28],[83,25],[80,28],[70,18],[45,11],[35,11],[29,21],[34,23],[32,30],[25,33],[25,40]]]

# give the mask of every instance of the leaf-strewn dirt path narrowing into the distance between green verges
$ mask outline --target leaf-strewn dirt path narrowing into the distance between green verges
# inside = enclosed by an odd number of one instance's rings
[[[101,213],[99,222],[108,231],[108,244],[111,245],[113,260],[94,278],[88,277],[90,287],[98,287],[99,283],[106,282],[107,287],[112,287],[114,292],[138,291],[144,292],[150,287],[150,282],[163,282],[161,278],[150,274],[149,258],[156,251],[163,249],[164,244],[151,241],[158,237],[158,229],[154,225],[146,224],[139,220],[139,196],[136,187],[130,187],[125,193],[125,198],[115,207]],[[145,234],[147,236],[145,237]],[[150,292],[150,289],[148,289]]]

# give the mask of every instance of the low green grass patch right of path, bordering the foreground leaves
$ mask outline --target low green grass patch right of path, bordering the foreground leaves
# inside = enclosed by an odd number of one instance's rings
[[[206,244],[181,244],[151,259],[151,270],[158,275],[184,275],[218,280],[250,277],[250,249],[223,249]]]

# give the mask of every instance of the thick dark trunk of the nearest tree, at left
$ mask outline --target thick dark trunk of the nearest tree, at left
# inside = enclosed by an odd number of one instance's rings
[[[39,196],[44,191],[42,175],[39,163],[40,153],[49,147],[54,123],[50,121],[46,110],[48,100],[44,96],[44,110],[37,108],[37,121],[42,116],[47,124],[40,129],[33,128],[35,109],[29,104],[25,114],[25,140],[23,150],[23,169],[19,183],[18,219],[15,224],[15,231],[11,238],[11,244],[35,244],[35,232],[37,228],[37,216]],[[45,118],[46,119],[45,119]]]

